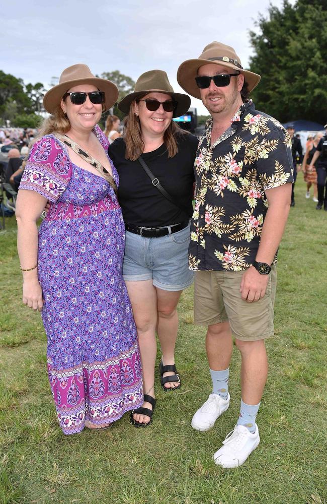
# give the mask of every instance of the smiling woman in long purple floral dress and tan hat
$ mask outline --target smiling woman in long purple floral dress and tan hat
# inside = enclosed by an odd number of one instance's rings
[[[85,65],[62,73],[44,97],[52,115],[30,151],[17,198],[23,302],[42,310],[49,381],[65,434],[107,428],[143,402],[114,184],[52,134],[66,134],[118,184],[108,140],[97,126],[117,97],[116,86]],[[37,234],[47,200],[50,209]]]

